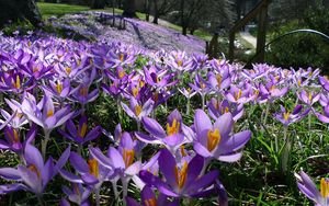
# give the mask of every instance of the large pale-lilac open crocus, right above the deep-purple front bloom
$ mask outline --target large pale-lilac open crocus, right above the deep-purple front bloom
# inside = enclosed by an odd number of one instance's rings
[[[219,116],[213,125],[204,111],[196,110],[194,150],[207,160],[215,158],[225,162],[238,161],[242,156],[239,150],[250,139],[251,131],[243,130],[232,135],[232,126],[234,119],[230,113]]]

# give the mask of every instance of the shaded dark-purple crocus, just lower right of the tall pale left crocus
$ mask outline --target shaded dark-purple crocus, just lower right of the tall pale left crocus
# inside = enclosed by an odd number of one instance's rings
[[[67,128],[68,133],[65,133],[61,129],[58,129],[58,131],[64,137],[77,142],[80,146],[84,145],[88,141],[91,141],[91,140],[98,138],[102,133],[101,126],[97,126],[92,130],[87,133],[88,124],[87,124],[87,116],[86,115],[82,115],[80,117],[78,128],[76,127],[72,119],[69,119],[66,123],[66,128]]]

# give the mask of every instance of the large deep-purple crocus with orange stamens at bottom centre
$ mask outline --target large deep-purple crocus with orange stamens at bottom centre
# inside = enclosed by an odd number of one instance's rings
[[[202,175],[204,158],[195,156],[190,162],[184,161],[179,165],[172,153],[162,149],[159,157],[159,168],[166,182],[148,171],[140,171],[139,178],[147,184],[170,197],[193,197],[205,193],[206,187],[215,182],[218,171]]]

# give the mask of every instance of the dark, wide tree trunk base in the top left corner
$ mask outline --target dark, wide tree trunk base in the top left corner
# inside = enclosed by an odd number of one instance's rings
[[[34,0],[1,0],[0,26],[9,21],[29,20],[34,26],[42,26],[42,16]]]

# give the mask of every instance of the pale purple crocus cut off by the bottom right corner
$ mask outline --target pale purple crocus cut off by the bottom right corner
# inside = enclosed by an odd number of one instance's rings
[[[295,173],[299,191],[309,199],[314,201],[317,206],[329,205],[329,179],[322,178],[320,181],[320,191],[310,178],[303,171]]]

